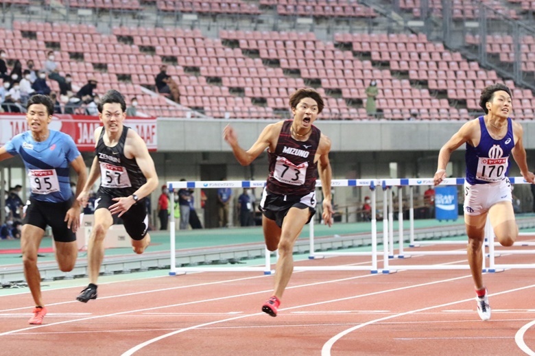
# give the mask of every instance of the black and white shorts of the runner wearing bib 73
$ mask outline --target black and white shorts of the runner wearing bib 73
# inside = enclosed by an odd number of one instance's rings
[[[259,209],[265,217],[274,220],[279,228],[283,227],[283,220],[290,208],[309,209],[308,224],[316,214],[316,209],[313,207],[316,206],[316,202],[313,199],[315,199],[313,193],[305,196],[277,195],[264,189]]]

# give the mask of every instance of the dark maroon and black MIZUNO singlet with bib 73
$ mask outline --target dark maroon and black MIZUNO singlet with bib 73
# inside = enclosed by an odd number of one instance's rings
[[[307,195],[316,189],[318,165],[314,157],[320,144],[321,131],[312,126],[307,141],[292,138],[290,128],[293,120],[283,123],[275,152],[268,150],[270,175],[266,189],[281,195]]]

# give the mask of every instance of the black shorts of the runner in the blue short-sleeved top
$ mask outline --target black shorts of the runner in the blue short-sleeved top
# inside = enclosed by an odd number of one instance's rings
[[[24,215],[23,225],[28,224],[37,226],[45,230],[47,225],[52,228],[54,241],[72,242],[76,241],[76,234],[71,228],[67,228],[67,222],[64,221],[67,211],[71,209],[72,202],[42,202],[29,198],[26,203],[26,214]]]

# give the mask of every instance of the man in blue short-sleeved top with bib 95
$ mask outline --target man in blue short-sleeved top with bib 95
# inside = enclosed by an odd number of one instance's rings
[[[71,190],[69,165],[78,175],[76,193],[87,180],[84,158],[73,139],[48,128],[53,111],[54,104],[46,95],[30,97],[26,114],[29,130],[0,148],[0,161],[21,156],[29,178],[30,195],[21,232],[24,275],[36,305],[29,324],[42,324],[47,313],[37,268],[37,252],[47,225],[52,229],[60,270],[70,272],[78,257],[75,233],[80,225],[80,204]]]

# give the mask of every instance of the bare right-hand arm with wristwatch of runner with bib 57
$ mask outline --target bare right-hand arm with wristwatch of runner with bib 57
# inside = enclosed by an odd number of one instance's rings
[[[139,134],[133,130],[131,130],[131,132],[132,136],[130,136],[130,131],[128,134],[128,139],[131,140],[130,143],[128,143],[129,150],[136,159],[136,163],[139,166],[139,169],[143,172],[143,176],[147,178],[147,182],[134,191],[134,194],[141,199],[145,198],[158,187],[158,175],[156,174],[154,161],[152,161],[152,157],[149,154],[147,145],[145,145],[145,141],[143,141]],[[130,209],[130,206],[135,204],[132,195],[128,197],[114,198],[113,200],[116,203],[110,206],[110,212],[112,215],[118,213],[119,217],[123,215],[123,213],[126,213],[126,211]]]

